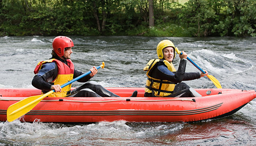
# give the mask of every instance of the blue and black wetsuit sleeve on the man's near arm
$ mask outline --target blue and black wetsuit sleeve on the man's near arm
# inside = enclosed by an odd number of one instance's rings
[[[57,77],[58,67],[56,63],[47,63],[42,65],[42,68],[34,76],[32,80],[32,85],[40,90],[50,91],[52,84],[49,82],[54,80]],[[49,80],[49,82],[47,82]]]

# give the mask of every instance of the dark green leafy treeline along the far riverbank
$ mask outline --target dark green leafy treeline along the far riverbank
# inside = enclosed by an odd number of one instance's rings
[[[255,0],[0,0],[0,35],[256,35]]]

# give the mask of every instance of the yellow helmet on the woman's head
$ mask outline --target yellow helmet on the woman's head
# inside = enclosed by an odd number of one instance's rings
[[[165,47],[173,47],[173,51],[174,51],[174,57],[173,57],[173,59],[174,59],[174,58],[175,58],[175,53],[176,53],[176,51],[175,51],[175,46],[173,45],[173,42],[172,42],[172,41],[167,40],[167,39],[165,39],[165,40],[159,42],[158,45],[157,45],[157,56],[158,56],[158,58],[159,58],[159,59],[163,59],[163,49],[164,49]]]

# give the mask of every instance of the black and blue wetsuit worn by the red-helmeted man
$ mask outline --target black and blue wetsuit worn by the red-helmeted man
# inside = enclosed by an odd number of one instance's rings
[[[50,59],[58,59],[61,62],[67,64],[66,60],[61,59],[58,56],[53,56]],[[52,82],[58,74],[58,67],[55,62],[47,63],[42,65],[42,68],[39,70],[39,72],[34,76],[32,80],[32,85],[42,90],[44,93],[50,91],[51,86],[53,85]],[[84,74],[84,72],[74,70],[74,76],[73,78],[76,78],[80,75]],[[89,81],[91,78],[90,74],[84,76],[83,78],[80,78],[77,80],[78,82],[86,82],[81,87],[78,87],[74,89],[71,92],[67,93],[68,97],[119,97],[118,95],[106,90],[101,85],[99,85],[95,81]],[[89,82],[87,82],[89,81]]]

